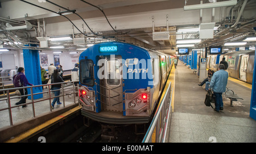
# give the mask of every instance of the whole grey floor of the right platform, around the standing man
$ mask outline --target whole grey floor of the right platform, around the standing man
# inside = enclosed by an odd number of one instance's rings
[[[175,69],[175,95],[171,116],[171,143],[255,143],[256,121],[250,118],[251,89],[229,77],[227,88],[234,91],[238,101],[222,94],[224,110],[216,113],[205,106],[205,85],[181,61]],[[249,88],[248,88],[249,87]],[[214,107],[214,105],[213,105]]]

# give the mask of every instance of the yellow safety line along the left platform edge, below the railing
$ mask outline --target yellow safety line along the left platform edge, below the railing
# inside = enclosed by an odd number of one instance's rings
[[[76,113],[80,109],[81,109],[81,106],[76,106],[73,109],[71,109],[63,114],[58,115],[55,118],[52,118],[52,119],[48,120],[47,122],[40,124],[39,126],[36,126],[35,128],[32,128],[31,130],[28,130],[28,131],[24,132],[23,134],[16,136],[14,139],[7,140],[6,143],[17,143],[19,141],[26,140],[26,139],[30,138],[31,136],[36,135],[39,132],[42,132],[42,131],[46,130],[47,128],[53,126],[57,122],[60,122],[61,120],[67,118],[67,116],[72,115],[73,113]]]

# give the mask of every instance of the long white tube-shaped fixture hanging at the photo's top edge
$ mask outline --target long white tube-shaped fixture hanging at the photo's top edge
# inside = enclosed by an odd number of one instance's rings
[[[199,9],[209,9],[214,7],[225,7],[225,6],[233,6],[237,4],[237,0],[230,0],[224,2],[215,2],[215,3],[205,3],[199,5],[187,5],[184,6],[184,11],[187,10],[199,10]]]

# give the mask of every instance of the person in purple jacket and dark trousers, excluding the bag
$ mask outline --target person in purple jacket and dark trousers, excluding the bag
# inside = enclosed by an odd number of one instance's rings
[[[30,82],[27,81],[27,78],[24,75],[24,72],[25,72],[24,68],[22,67],[18,68],[18,75],[20,75],[20,82],[22,83],[22,86],[27,86],[27,85],[32,86],[33,84],[30,84]],[[27,88],[19,89],[19,91],[21,95],[27,95]],[[19,102],[15,103],[15,105],[26,103],[26,99],[27,99],[27,96],[22,97]],[[27,105],[23,105],[22,107],[26,107],[26,106]]]

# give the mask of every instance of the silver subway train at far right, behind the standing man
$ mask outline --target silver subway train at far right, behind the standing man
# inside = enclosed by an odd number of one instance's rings
[[[252,84],[254,55],[255,50],[226,52],[222,53],[222,55],[208,55],[207,68],[217,71],[218,64],[225,57],[229,65],[227,69],[229,76]]]

